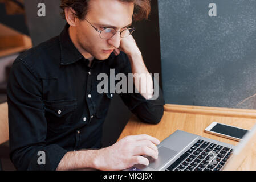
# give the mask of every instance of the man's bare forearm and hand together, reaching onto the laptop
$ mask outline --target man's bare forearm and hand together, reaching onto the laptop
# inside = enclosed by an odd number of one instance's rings
[[[148,165],[149,160],[142,155],[157,159],[159,143],[158,139],[144,134],[124,137],[99,150],[67,152],[57,170],[123,170],[134,164]]]

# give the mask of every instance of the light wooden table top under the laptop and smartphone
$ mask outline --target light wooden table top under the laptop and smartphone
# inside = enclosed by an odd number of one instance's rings
[[[157,125],[140,122],[135,116],[129,119],[119,140],[127,135],[148,134],[164,140],[176,130],[201,135],[202,137],[218,140],[233,145],[238,142],[216,135],[205,133],[205,128],[213,121],[225,123],[250,130],[256,123],[256,110],[227,109],[221,107],[201,107],[166,104],[164,115]],[[256,141],[255,141],[256,143]],[[256,170],[256,144],[250,154],[243,160],[238,170]]]

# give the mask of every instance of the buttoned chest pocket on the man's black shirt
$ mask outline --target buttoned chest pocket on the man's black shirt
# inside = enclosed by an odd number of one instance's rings
[[[68,129],[75,122],[76,100],[44,101],[44,110],[48,129]]]

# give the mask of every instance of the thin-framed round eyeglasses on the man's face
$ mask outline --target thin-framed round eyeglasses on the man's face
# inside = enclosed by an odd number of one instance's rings
[[[88,22],[87,19],[85,19],[85,20]],[[111,39],[117,32],[120,32],[121,38],[127,38],[129,35],[131,35],[135,31],[135,28],[126,28],[123,31],[116,31],[114,28],[105,28],[104,30],[99,30],[96,27],[94,27],[90,22],[88,22],[88,23],[97,32],[100,32],[101,39]]]

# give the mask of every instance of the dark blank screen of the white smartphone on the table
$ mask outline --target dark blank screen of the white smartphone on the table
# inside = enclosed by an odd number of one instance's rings
[[[221,125],[217,123],[210,131],[241,139],[248,130],[238,129],[236,127]]]

